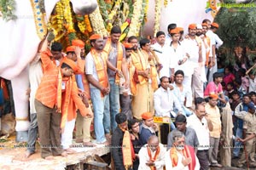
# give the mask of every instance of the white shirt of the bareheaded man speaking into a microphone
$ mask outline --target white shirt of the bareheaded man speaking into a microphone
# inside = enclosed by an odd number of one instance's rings
[[[171,77],[171,69],[170,69],[170,58],[171,55],[169,54],[168,45],[165,44],[163,47],[158,43],[154,43],[154,45],[151,46],[152,48],[162,52],[159,53],[155,51],[155,54],[157,54],[158,58],[160,59],[160,64],[163,65],[163,68],[160,70],[160,77]]]

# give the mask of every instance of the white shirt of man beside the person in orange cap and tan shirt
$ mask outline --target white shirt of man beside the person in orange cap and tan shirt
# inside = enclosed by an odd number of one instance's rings
[[[195,113],[187,118],[187,127],[191,127],[195,130],[197,139],[199,141],[199,147],[197,150],[208,150],[210,144],[210,134],[207,119],[203,117],[200,119]]]

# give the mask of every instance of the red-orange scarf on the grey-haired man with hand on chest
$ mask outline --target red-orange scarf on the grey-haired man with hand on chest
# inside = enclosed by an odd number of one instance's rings
[[[177,150],[175,147],[172,147],[170,149],[170,156],[172,159],[172,167],[177,167]],[[186,158],[191,157],[192,161],[189,163],[189,170],[194,170],[195,169],[195,151],[194,149],[189,146],[185,145],[183,149],[183,156]]]

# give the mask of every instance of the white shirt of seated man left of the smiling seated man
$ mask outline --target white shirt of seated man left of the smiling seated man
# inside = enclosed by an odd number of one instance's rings
[[[170,112],[173,111],[174,105],[178,111],[182,112],[181,105],[170,88],[165,90],[160,87],[154,92],[154,110],[156,116],[170,117]]]

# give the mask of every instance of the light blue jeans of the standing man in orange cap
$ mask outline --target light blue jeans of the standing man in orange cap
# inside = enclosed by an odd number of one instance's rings
[[[106,142],[103,117],[104,117],[104,104],[108,96],[101,97],[101,91],[98,88],[90,88],[90,99],[94,110],[94,130],[96,133],[96,142]]]

